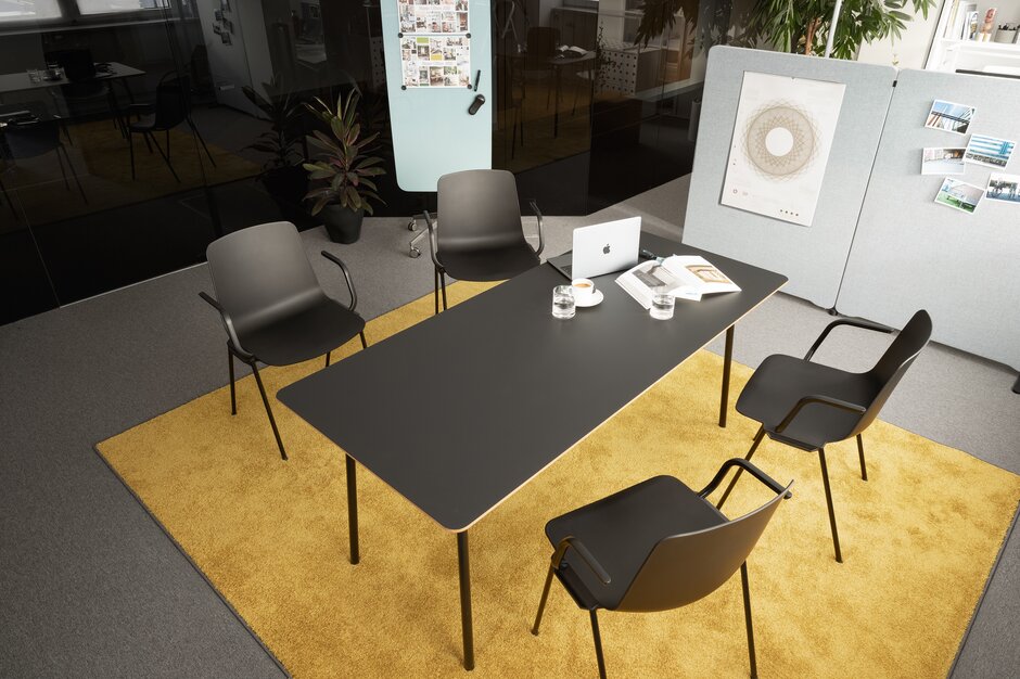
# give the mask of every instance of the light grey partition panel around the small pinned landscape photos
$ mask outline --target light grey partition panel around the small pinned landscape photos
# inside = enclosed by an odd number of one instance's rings
[[[922,149],[968,139],[923,127],[935,99],[977,108],[968,132],[1020,142],[1020,81],[902,72],[838,308],[896,326],[925,308],[934,340],[1020,369],[1020,204],[983,198],[970,215],[933,202],[943,177],[921,175]],[[990,172],[1020,175],[1018,156],[954,178],[984,188]]]

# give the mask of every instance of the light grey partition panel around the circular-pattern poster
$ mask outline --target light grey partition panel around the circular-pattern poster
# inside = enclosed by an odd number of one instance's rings
[[[719,204],[744,72],[846,85],[811,227]],[[712,48],[684,242],[782,273],[783,292],[834,306],[895,78],[891,66]]]

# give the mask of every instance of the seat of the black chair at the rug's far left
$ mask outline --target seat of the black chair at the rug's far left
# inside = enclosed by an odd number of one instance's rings
[[[364,329],[365,319],[322,295],[301,311],[246,332],[239,331],[238,338],[245,351],[267,366],[290,366],[322,356]]]

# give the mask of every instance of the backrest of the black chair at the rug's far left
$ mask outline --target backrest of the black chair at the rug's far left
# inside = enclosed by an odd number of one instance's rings
[[[205,251],[216,299],[238,334],[299,311],[326,293],[297,229],[273,221],[228,233]]]

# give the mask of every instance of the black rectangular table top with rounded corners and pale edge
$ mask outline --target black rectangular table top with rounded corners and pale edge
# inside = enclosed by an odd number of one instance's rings
[[[451,531],[467,530],[599,424],[775,293],[786,278],[698,254],[739,293],[649,317],[614,279],[597,306],[552,317],[544,264],[305,377],[279,399]],[[369,337],[371,340],[371,337]]]

